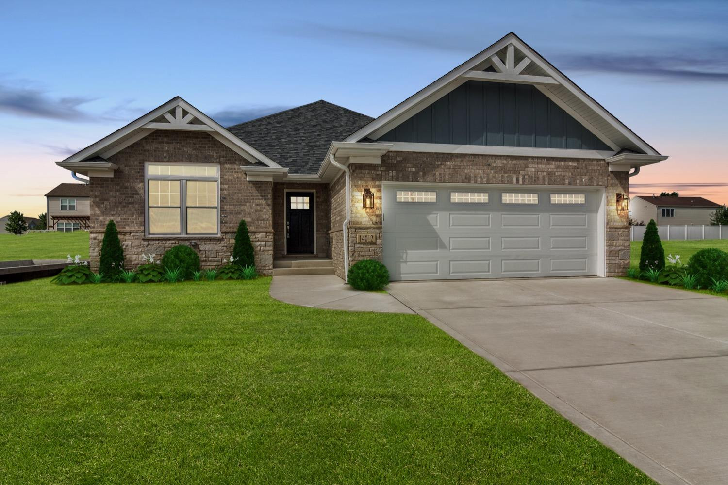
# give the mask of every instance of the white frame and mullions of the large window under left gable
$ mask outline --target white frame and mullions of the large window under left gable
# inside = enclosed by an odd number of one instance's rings
[[[149,165],[182,165],[186,167],[197,166],[197,165],[210,165],[218,168],[217,177],[211,175],[149,175]],[[220,165],[219,164],[205,164],[205,163],[183,163],[183,162],[162,162],[162,161],[146,161],[144,162],[144,236],[149,237],[160,237],[160,238],[204,238],[220,236],[222,231],[222,220],[221,220],[221,207],[220,207]],[[149,233],[149,180],[179,180],[180,181],[180,232],[179,233]],[[184,182],[216,182],[218,183],[218,232],[217,233],[194,233],[188,234],[187,229],[187,190]],[[211,207],[210,207],[211,209]]]

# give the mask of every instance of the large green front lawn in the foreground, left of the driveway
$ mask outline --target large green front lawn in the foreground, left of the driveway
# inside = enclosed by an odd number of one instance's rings
[[[423,318],[269,282],[0,286],[0,481],[653,483]]]

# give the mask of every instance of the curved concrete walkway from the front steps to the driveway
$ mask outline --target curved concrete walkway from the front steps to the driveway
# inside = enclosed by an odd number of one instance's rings
[[[276,300],[331,310],[414,313],[387,293],[360,292],[339,276],[273,276],[270,294]]]

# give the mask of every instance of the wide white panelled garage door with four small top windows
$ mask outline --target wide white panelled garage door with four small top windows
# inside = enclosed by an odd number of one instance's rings
[[[597,274],[601,191],[386,184],[392,280]]]

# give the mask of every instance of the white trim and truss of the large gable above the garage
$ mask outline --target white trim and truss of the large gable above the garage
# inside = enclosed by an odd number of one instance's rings
[[[660,155],[660,153],[657,153],[654,148],[650,147],[647,143],[644,142],[644,140],[642,140],[628,127],[622,124],[622,122],[612,116],[611,113],[606,111],[604,108],[598,105],[598,103],[592,100],[591,97],[589,97],[584,91],[582,91],[581,88],[579,88],[576,84],[567,79],[566,76],[563,76],[561,73],[559,73],[558,70],[553,67],[553,65],[543,59],[543,57],[535,52],[534,49],[531,49],[531,47],[521,41],[521,39],[518,39],[518,36],[516,36],[514,33],[507,34],[507,36],[503,37],[499,41],[496,41],[496,43],[491,45],[491,47],[488,47],[487,49],[483,50],[483,52],[480,52],[478,55],[470,58],[470,60],[465,61],[464,63],[447,73],[445,76],[440,77],[440,79],[436,80],[429,86],[424,87],[424,89],[420,90],[415,95],[408,97],[402,103],[396,105],[394,108],[374,119],[369,124],[366,124],[364,127],[358,129],[352,135],[349,135],[349,137],[347,137],[347,139],[344,141],[355,142],[365,137],[372,137],[376,140],[377,138],[381,137],[381,135],[387,133],[393,127],[402,123],[411,116],[414,116],[416,113],[418,113],[428,105],[434,103],[440,97],[443,97],[444,95],[447,95],[448,92],[456,89],[456,87],[459,87],[461,84],[467,81],[467,79],[472,79],[472,73],[469,73],[469,71],[480,71],[480,69],[485,68],[488,65],[494,65],[495,61],[492,57],[497,58],[496,54],[508,46],[510,47],[509,49],[507,49],[507,52],[510,51],[510,49],[513,49],[513,47],[523,52],[523,54],[526,55],[529,60],[531,60],[531,63],[534,63],[534,65],[538,65],[539,68],[542,68],[542,70],[545,71],[548,76],[550,76],[550,78],[555,79],[558,84],[561,84],[561,86],[565,87],[569,92],[577,97],[579,102],[584,103],[590,109],[598,113],[601,118],[607,121],[612,127],[614,127],[614,129],[617,129],[617,131],[620,132],[621,135],[627,137],[630,142],[634,143],[646,154]],[[510,60],[513,60],[512,54]],[[529,76],[521,75],[520,72],[523,71],[523,69],[526,68],[528,64],[529,63],[521,62],[518,64],[518,66],[515,67],[510,67],[509,65],[499,65],[495,68],[496,71],[498,71],[499,68],[510,71],[513,76],[516,76],[518,78],[517,80],[525,82],[528,80]],[[516,73],[515,71],[518,71],[518,73]],[[542,81],[546,80],[544,79]],[[614,143],[613,140],[609,139],[609,137],[606,137],[604,133],[593,127],[593,125],[587,122],[582,116],[579,116],[579,114],[576,113],[574,109],[570,108],[568,105],[566,105],[566,103],[563,103],[562,100],[558,99],[553,94],[553,92],[550,92],[548,89],[545,88],[545,85],[548,84],[542,82],[542,84],[539,84],[536,87],[537,89],[539,89],[539,91],[544,93],[547,97],[549,97],[557,105],[559,105],[567,113],[569,113],[569,115],[573,116],[574,119],[577,119],[577,121],[582,123],[587,129],[590,130],[590,132],[593,132],[593,134],[596,135],[600,140],[609,145],[609,147],[612,148],[614,151],[619,151],[620,148],[622,148]]]

